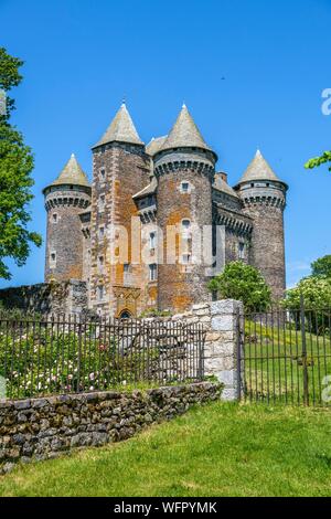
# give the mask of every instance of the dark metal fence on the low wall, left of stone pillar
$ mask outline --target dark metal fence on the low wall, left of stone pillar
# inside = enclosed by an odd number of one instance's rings
[[[199,322],[0,318],[0,398],[200,381],[203,345]]]

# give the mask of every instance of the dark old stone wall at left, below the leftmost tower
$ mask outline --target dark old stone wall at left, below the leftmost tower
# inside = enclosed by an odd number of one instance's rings
[[[0,290],[6,309],[19,308],[36,314],[81,314],[88,307],[86,282],[40,283]]]

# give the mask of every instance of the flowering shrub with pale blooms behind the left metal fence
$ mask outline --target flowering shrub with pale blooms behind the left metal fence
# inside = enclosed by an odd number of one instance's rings
[[[60,331],[50,324],[38,329],[0,327],[0,377],[8,398],[107,390],[147,378],[154,350],[124,350],[118,340],[97,337],[96,326],[84,333]]]

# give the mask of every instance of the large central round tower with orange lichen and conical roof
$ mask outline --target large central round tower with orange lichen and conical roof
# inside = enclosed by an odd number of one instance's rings
[[[158,268],[161,310],[183,311],[210,298],[203,251],[212,250],[206,226],[211,230],[216,160],[184,105],[154,156],[158,226],[163,236],[163,262],[159,258]]]

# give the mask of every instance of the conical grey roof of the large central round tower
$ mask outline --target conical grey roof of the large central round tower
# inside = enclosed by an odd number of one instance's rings
[[[164,140],[160,151],[171,148],[202,148],[212,151],[212,149],[205,144],[197,126],[188,110],[186,105],[182,106],[177,121]]]

